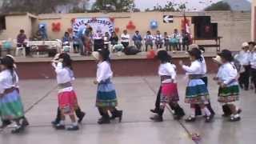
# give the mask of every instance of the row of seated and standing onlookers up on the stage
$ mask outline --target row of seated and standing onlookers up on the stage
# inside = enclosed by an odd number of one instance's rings
[[[36,40],[46,40],[46,30],[40,28],[37,33]],[[26,46],[26,34],[24,30],[20,30],[18,34],[17,46],[26,47],[26,55],[30,55],[30,47]],[[81,55],[90,55],[92,51],[99,49],[109,49],[111,52],[124,52],[125,54],[137,54],[141,51],[156,50],[166,48],[168,51],[188,50],[191,44],[190,34],[185,30],[179,32],[177,29],[174,32],[163,34],[157,30],[152,34],[150,30],[142,35],[138,30],[134,34],[128,34],[127,30],[123,30],[122,34],[118,36],[116,32],[111,34],[106,32],[103,34],[101,29],[93,30],[89,25],[78,30],[74,34],[65,32],[61,39],[62,49],[70,51],[73,48],[74,53]]]

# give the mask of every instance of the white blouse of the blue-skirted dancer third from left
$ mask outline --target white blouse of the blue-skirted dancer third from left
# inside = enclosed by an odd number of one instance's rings
[[[113,72],[111,70],[110,63],[106,61],[98,63],[97,78],[96,78],[97,82],[102,82],[112,77],[113,77]]]

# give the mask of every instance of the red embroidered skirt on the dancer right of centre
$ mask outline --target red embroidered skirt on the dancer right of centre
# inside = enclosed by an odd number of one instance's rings
[[[177,83],[163,83],[161,86],[160,102],[167,104],[170,102],[178,102]]]

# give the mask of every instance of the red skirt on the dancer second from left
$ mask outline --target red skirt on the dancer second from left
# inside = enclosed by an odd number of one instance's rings
[[[64,114],[73,114],[78,106],[78,98],[74,90],[64,91],[58,94],[58,107]]]

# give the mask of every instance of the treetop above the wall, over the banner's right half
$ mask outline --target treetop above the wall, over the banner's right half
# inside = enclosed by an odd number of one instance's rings
[[[134,0],[97,0],[92,10],[106,12],[127,12],[135,7]]]

